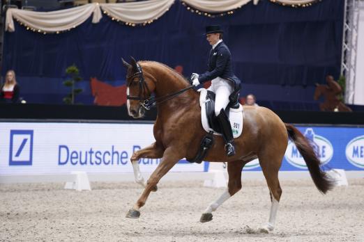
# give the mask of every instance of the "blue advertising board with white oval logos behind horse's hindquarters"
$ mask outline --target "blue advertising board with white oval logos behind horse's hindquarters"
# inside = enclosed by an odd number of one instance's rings
[[[364,127],[296,126],[313,141],[324,169],[364,170]],[[245,170],[261,170],[257,161]],[[305,161],[289,140],[280,170],[307,170]]]

